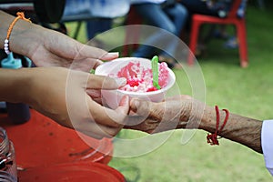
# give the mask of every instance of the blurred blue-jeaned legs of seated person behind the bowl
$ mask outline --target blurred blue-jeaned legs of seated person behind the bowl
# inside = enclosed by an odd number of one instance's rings
[[[136,13],[147,21],[147,25],[153,25],[167,30],[173,35],[180,36],[187,22],[187,9],[177,3],[176,0],[131,0],[131,7]],[[177,41],[165,40],[160,31],[147,38],[146,44],[141,45],[133,56],[150,57],[155,55],[155,49],[152,46],[157,42],[165,42],[167,48],[159,53],[159,61],[165,61],[169,67],[181,68],[172,58],[176,53]]]

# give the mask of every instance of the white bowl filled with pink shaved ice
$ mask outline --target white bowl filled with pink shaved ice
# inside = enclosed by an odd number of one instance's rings
[[[95,75],[125,77],[126,86],[116,90],[102,90],[103,104],[115,109],[125,95],[130,98],[160,102],[176,82],[174,72],[165,62],[157,63],[158,85],[153,82],[152,62],[140,57],[122,57],[96,67]]]

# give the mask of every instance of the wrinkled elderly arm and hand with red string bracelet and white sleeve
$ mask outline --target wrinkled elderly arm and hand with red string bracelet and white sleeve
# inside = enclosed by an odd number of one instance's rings
[[[219,145],[217,139],[221,136],[263,154],[266,167],[273,176],[273,120],[261,121],[232,114],[227,109],[207,106],[190,96],[174,96],[160,103],[134,98],[130,109],[136,115],[126,128],[149,134],[180,128],[205,130],[211,133],[207,134],[210,145]]]

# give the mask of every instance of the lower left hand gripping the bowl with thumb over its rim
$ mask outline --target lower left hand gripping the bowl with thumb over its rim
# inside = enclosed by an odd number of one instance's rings
[[[96,138],[115,136],[123,127],[129,110],[127,96],[116,110],[99,105],[93,98],[99,96],[101,89],[125,85],[124,79],[62,67],[35,67],[24,71],[30,76],[23,102],[60,125]],[[88,92],[93,94],[89,96]]]

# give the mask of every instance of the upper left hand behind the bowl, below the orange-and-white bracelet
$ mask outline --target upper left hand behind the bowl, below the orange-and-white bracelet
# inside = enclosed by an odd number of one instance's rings
[[[27,31],[15,34],[12,37],[15,40],[10,43],[10,47],[15,53],[29,57],[36,66],[63,66],[88,72],[99,66],[101,60],[118,57],[118,53],[107,53],[94,46],[84,45],[40,25],[28,22],[18,24],[22,24]]]

